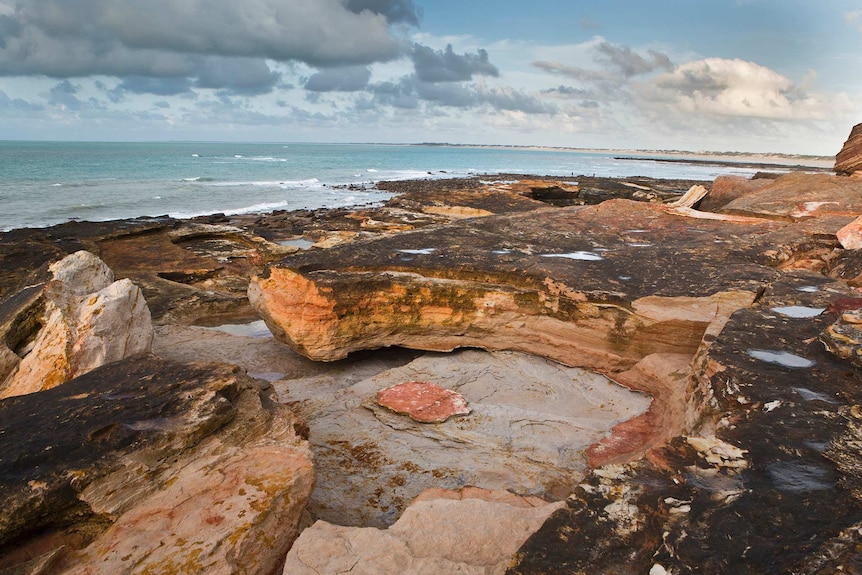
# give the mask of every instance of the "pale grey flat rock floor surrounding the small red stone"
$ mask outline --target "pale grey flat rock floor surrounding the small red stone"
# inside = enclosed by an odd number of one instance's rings
[[[377,404],[404,381],[434,381],[472,413],[413,421]],[[425,354],[403,367],[338,385],[337,376],[274,382],[307,423],[318,481],[316,518],[385,527],[427,488],[474,485],[565,498],[586,471],[584,450],[649,397],[581,369],[515,352]]]

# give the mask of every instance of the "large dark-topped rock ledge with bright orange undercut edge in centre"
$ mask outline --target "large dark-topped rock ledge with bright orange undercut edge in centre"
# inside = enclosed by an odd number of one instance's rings
[[[771,271],[744,252],[780,225],[748,220],[745,239],[739,227],[623,200],[483,218],[300,254],[249,297],[277,338],[318,360],[476,346],[621,371],[650,353],[693,354],[757,293]]]

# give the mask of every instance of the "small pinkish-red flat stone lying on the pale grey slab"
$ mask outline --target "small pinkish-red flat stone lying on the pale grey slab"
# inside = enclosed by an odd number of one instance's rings
[[[420,423],[442,423],[471,411],[462,395],[427,381],[407,381],[381,389],[377,403]]]

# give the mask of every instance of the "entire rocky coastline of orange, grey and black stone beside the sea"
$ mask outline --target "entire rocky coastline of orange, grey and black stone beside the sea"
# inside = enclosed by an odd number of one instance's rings
[[[0,234],[0,574],[862,573],[860,127]]]

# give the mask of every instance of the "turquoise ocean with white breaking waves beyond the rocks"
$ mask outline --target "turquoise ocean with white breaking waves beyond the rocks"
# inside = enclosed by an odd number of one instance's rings
[[[390,197],[374,190],[381,180],[498,173],[712,180],[754,170],[498,147],[0,141],[0,231],[362,205]]]

